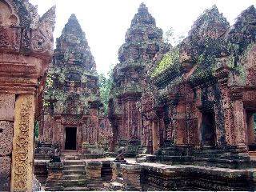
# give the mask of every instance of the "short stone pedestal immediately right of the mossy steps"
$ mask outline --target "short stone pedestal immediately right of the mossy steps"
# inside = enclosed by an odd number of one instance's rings
[[[87,186],[92,190],[102,190],[102,162],[86,162]]]

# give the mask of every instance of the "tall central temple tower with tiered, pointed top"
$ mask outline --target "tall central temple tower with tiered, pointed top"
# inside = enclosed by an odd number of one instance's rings
[[[166,49],[162,30],[156,27],[145,4],[134,15],[125,41],[118,51],[120,63],[114,67],[109,118],[114,134],[112,150],[126,146],[126,155],[134,155],[142,142],[141,135],[146,134],[142,133],[142,116],[136,106],[147,85],[146,66],[155,54]]]

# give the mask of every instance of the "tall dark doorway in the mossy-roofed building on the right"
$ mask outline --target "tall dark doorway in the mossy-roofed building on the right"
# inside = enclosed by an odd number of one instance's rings
[[[202,146],[215,146],[214,113],[202,112]]]

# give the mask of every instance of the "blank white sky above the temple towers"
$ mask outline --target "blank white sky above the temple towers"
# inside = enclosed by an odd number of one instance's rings
[[[98,74],[107,74],[111,64],[118,63],[118,49],[125,42],[126,30],[142,2],[164,33],[172,27],[175,34],[185,35],[198,16],[214,4],[230,25],[242,10],[251,5],[256,7],[255,0],[30,0],[38,5],[40,16],[51,6],[57,6],[54,42],[70,15],[76,15],[86,33]]]

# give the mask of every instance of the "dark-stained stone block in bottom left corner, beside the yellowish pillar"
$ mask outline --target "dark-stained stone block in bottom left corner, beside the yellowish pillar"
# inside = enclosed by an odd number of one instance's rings
[[[10,191],[10,157],[0,157],[0,190]]]

